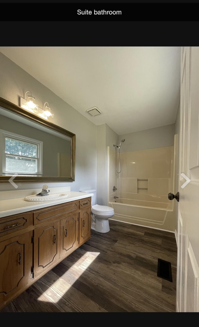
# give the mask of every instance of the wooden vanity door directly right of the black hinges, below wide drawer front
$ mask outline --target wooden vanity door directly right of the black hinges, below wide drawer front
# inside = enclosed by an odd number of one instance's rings
[[[50,270],[60,254],[60,221],[34,231],[34,277]]]

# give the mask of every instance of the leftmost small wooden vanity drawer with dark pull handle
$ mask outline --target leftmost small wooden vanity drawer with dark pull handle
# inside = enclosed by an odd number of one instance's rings
[[[33,214],[25,213],[0,218],[0,236],[22,230],[33,225]]]

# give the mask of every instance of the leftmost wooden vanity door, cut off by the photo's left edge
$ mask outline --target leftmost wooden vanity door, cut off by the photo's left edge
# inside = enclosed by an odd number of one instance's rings
[[[33,277],[32,232],[0,243],[0,308],[19,295]]]

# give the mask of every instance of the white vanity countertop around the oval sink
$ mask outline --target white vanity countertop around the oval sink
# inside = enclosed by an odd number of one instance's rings
[[[72,191],[67,191],[67,194],[69,195],[68,198],[44,202],[25,201],[25,196],[23,196],[22,198],[1,199],[0,218],[93,196],[93,193],[82,193]]]

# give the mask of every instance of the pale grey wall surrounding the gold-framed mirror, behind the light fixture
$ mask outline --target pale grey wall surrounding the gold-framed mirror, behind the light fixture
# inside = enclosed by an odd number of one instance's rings
[[[20,97],[31,91],[40,108],[47,101],[54,113],[53,123],[76,135],[75,181],[48,182],[48,186],[70,186],[71,191],[97,187],[97,126],[52,91],[0,53],[0,97],[20,105]],[[40,188],[44,183],[17,183],[18,189]],[[13,190],[0,183],[0,190]]]

